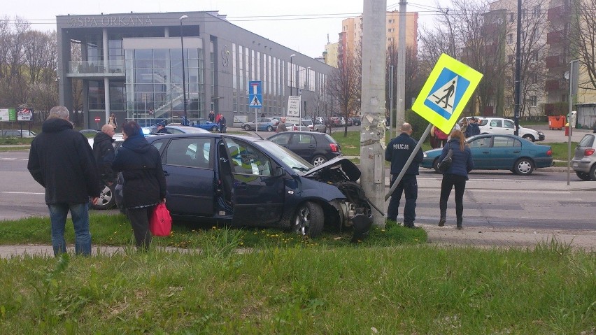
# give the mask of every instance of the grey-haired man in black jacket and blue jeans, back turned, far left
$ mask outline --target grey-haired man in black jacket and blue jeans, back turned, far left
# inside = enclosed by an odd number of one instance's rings
[[[66,252],[64,226],[69,211],[75,230],[75,252],[90,255],[89,197],[97,204],[101,190],[99,174],[89,141],[73,130],[66,107],[56,106],[50,110],[41,134],[31,142],[27,169],[45,188],[54,255]]]

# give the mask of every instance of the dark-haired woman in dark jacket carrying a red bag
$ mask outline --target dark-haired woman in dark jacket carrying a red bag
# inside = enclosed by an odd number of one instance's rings
[[[141,126],[134,121],[122,124],[122,146],[112,164],[122,171],[122,193],[127,215],[134,232],[136,248],[147,250],[151,244],[149,220],[154,208],[166,201],[166,177],[157,148],[150,145]]]

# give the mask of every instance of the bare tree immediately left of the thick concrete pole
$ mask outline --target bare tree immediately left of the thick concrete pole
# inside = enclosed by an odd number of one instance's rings
[[[357,66],[353,55],[340,60],[337,69],[329,74],[327,92],[346,120],[351,111],[360,110],[360,76],[360,66]],[[343,136],[348,136],[347,126],[344,127]]]

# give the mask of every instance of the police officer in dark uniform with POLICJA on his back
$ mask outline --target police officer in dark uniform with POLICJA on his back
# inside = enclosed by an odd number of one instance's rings
[[[408,158],[416,147],[416,143],[418,143],[415,139],[411,138],[411,124],[402,124],[401,130],[402,134],[393,138],[385,149],[385,160],[391,162],[391,181],[389,187],[393,185],[395,179],[399,176],[399,173],[402,172]],[[391,199],[387,208],[387,218],[389,220],[397,221],[399,201],[402,199],[402,193],[405,192],[405,227],[413,228],[414,220],[416,220],[416,199],[418,198],[418,181],[416,180],[416,175],[418,174],[418,165],[422,163],[423,157],[423,151],[419,149],[406,170],[406,174],[404,174],[404,177],[399,181],[399,184],[397,184],[397,187],[391,194]]]

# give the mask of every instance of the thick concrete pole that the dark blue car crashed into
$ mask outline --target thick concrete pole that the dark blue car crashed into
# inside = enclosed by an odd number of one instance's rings
[[[360,185],[377,208],[385,207],[385,40],[386,0],[364,1],[362,29],[362,127]],[[373,210],[375,211],[375,210]],[[384,225],[384,213],[374,212],[373,224]]]

